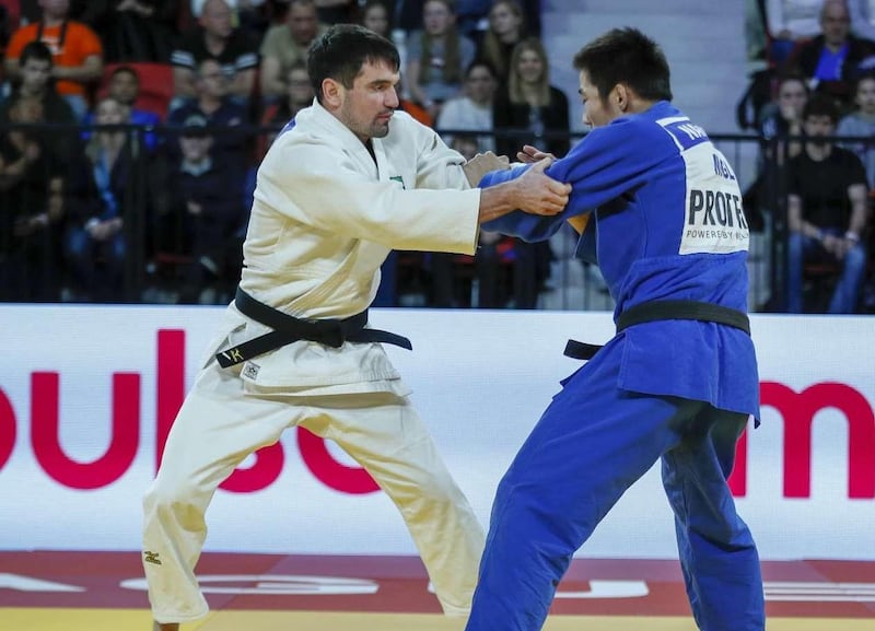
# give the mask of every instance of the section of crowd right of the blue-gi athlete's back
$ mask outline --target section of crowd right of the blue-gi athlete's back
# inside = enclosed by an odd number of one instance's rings
[[[784,254],[763,306],[875,313],[875,2],[748,0],[746,39],[738,124],[762,142],[745,208]]]

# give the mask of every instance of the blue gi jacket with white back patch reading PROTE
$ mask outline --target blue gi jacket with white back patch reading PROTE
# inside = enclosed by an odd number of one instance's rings
[[[480,186],[518,177],[525,168],[489,173]],[[738,182],[704,130],[670,103],[594,129],[547,174],[572,185],[562,213],[514,211],[483,229],[542,241],[567,219],[592,212],[576,255],[602,269],[616,301],[615,322],[625,309],[656,300],[747,311],[748,226]],[[697,320],[645,323],[618,334],[599,355],[606,352],[622,353],[620,388],[759,418],[756,353],[739,329]]]

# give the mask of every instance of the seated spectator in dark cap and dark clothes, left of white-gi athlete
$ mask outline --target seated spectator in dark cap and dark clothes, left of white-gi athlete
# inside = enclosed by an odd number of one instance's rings
[[[230,285],[240,274],[242,241],[237,235],[246,217],[240,176],[212,157],[213,137],[207,125],[199,114],[185,120],[178,159],[164,182],[156,183],[162,191],[155,231],[159,247],[191,257],[179,295],[179,302],[189,304],[230,300]],[[166,243],[168,236],[177,235],[178,242]]]

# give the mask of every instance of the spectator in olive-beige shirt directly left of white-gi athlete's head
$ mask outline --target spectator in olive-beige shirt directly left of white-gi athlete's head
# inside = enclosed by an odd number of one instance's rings
[[[272,103],[285,95],[284,77],[296,61],[306,62],[307,48],[325,32],[314,0],[291,0],[285,21],[268,28],[261,42],[261,97]]]

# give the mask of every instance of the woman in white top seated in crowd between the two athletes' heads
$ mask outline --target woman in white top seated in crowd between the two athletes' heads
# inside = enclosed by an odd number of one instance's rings
[[[495,71],[485,60],[475,60],[465,72],[464,94],[451,98],[438,115],[438,130],[444,142],[453,143],[452,130],[485,131],[477,139],[477,151],[495,151],[495,137],[491,133],[492,106],[495,98]],[[463,154],[464,155],[464,154]]]

